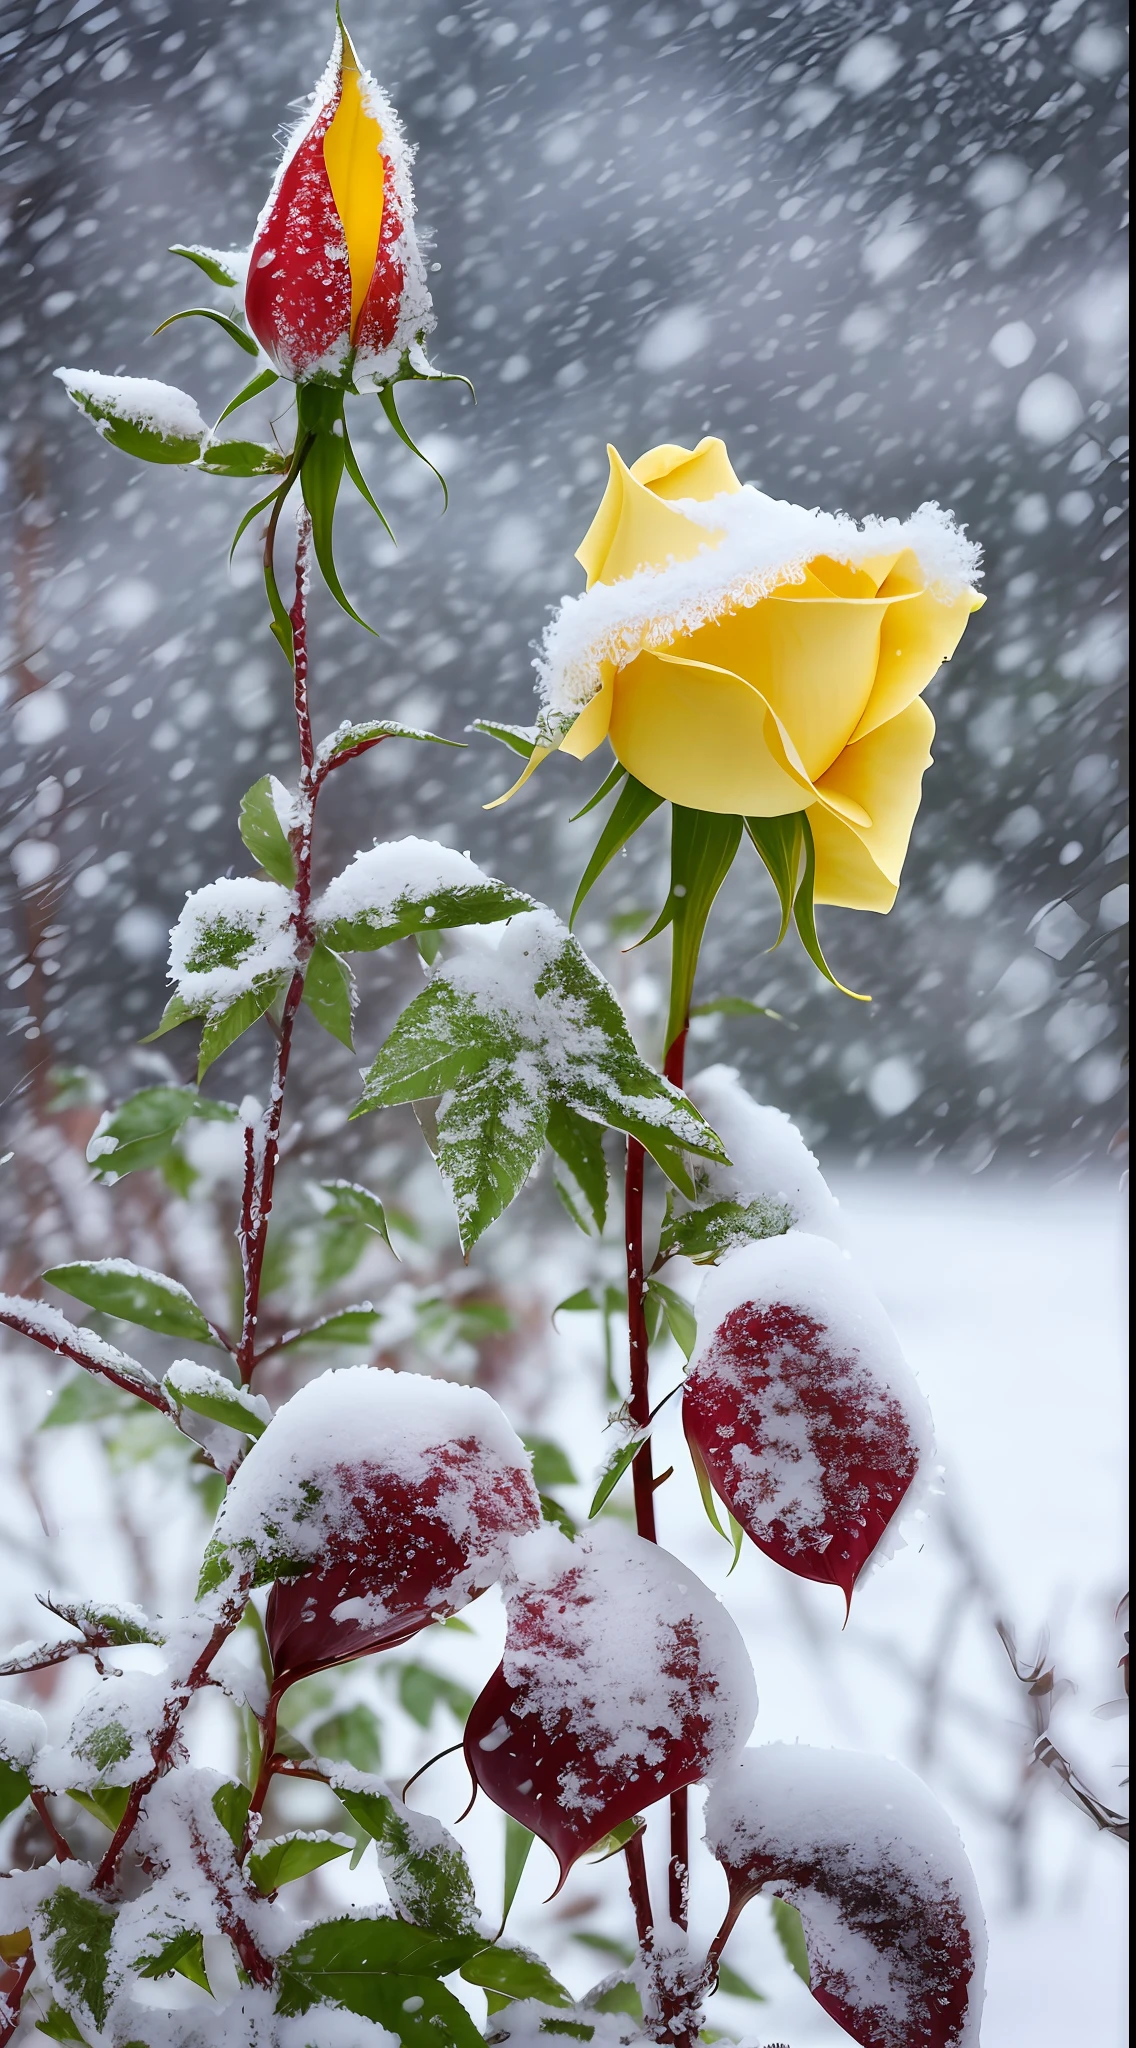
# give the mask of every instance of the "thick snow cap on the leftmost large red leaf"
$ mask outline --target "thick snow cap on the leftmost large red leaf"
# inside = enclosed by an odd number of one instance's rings
[[[360,1481],[377,1493],[385,1479],[411,1489],[436,1483],[428,1513],[465,1546],[477,1587],[499,1577],[510,1538],[540,1516],[528,1452],[491,1395],[346,1366],[276,1409],[229,1485],[215,1540],[258,1550],[270,1530],[276,1550],[317,1565],[330,1538],[340,1550],[366,1542],[354,1495]],[[450,1602],[452,1591],[450,1579],[436,1599]]]

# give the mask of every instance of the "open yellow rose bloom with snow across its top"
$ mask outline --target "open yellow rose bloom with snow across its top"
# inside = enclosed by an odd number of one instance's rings
[[[976,547],[937,506],[858,526],[778,504],[720,440],[608,457],[587,592],[544,637],[530,768],[610,739],[688,809],[809,811],[815,899],[890,909],[935,731],[921,692],[982,604]]]

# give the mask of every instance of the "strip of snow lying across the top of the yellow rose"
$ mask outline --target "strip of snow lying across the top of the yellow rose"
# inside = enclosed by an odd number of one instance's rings
[[[643,647],[667,647],[723,612],[759,604],[780,584],[804,582],[804,567],[815,555],[858,563],[911,549],[925,586],[942,602],[970,588],[980,573],[978,543],[968,541],[954,514],[937,504],[919,506],[907,520],[866,518],[858,524],[843,512],[792,506],[745,483],[704,502],[675,498],[669,510],[708,528],[698,555],[561,598],[549,621],[536,676],[544,717],[555,731],[596,696],[604,662],[620,668]]]

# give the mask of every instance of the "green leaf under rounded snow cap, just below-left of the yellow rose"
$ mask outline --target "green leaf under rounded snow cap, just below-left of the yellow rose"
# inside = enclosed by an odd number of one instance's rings
[[[416,932],[495,924],[530,907],[532,897],[483,874],[467,854],[409,838],[356,854],[313,915],[330,946],[375,952]]]

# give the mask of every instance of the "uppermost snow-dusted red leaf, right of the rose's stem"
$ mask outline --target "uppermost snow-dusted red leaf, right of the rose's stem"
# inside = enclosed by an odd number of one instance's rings
[[[931,1417],[851,1262],[788,1231],[702,1282],[684,1430],[741,1528],[786,1571],[845,1602],[911,1489],[929,1481]]]

